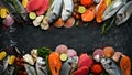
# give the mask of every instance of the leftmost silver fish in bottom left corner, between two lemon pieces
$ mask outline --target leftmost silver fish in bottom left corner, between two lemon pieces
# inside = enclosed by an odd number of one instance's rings
[[[2,75],[6,72],[6,69],[8,67],[8,61],[9,61],[9,56],[7,56],[3,61],[1,61],[1,63],[0,63],[0,68],[1,68],[0,75]]]

